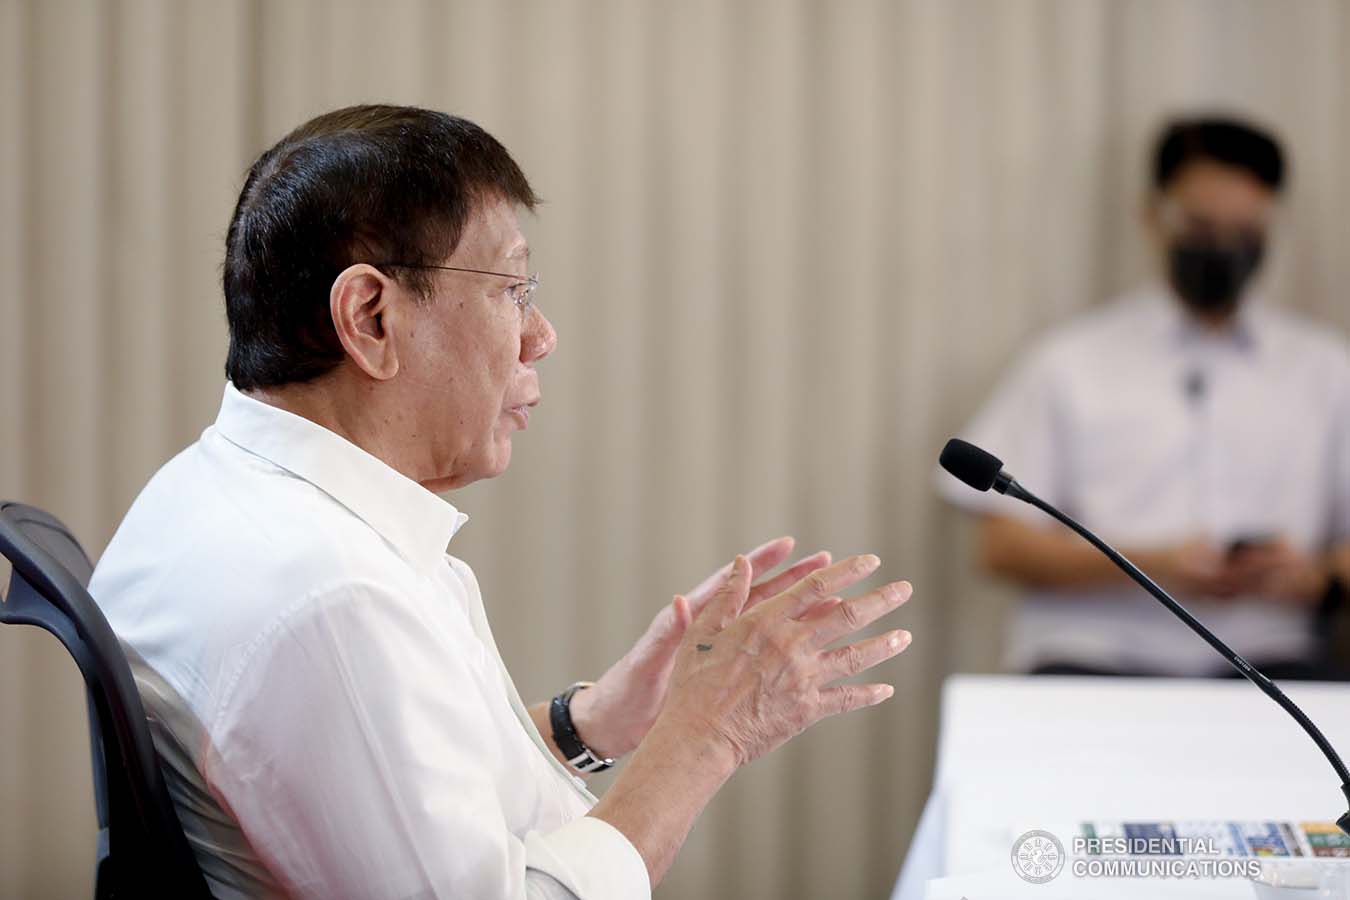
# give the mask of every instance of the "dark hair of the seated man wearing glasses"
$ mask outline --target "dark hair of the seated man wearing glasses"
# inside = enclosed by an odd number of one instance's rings
[[[539,202],[506,148],[474,123],[416,107],[348,107],[310,119],[248,170],[225,236],[225,375],[240,390],[332,371],[328,310],[356,262],[437,263],[479,202]],[[392,273],[423,296],[427,273]]]

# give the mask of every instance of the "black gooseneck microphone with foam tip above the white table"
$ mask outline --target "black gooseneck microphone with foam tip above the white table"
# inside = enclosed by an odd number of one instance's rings
[[[1346,770],[1346,764],[1341,761],[1341,756],[1336,753],[1335,748],[1331,746],[1331,742],[1327,741],[1326,735],[1322,734],[1318,726],[1312,723],[1312,719],[1310,719],[1293,700],[1285,696],[1284,691],[1276,687],[1274,681],[1268,679],[1260,669],[1242,658],[1237,650],[1220,641],[1214,631],[1204,627],[1200,619],[1191,615],[1189,610],[1177,603],[1170,594],[1164,591],[1153,579],[1141,572],[1134,563],[1125,559],[1125,556],[1118,553],[1110,544],[1079,525],[1073,521],[1073,518],[1065,515],[1031,491],[1018,484],[1017,479],[1003,470],[1003,460],[980,449],[975,444],[953,437],[946,443],[946,447],[942,448],[942,456],[938,459],[938,463],[948,472],[977,491],[987,491],[992,487],[999,494],[1007,494],[1008,497],[1015,497],[1025,503],[1030,503],[1056,521],[1066,525],[1071,530],[1077,533],[1079,537],[1102,551],[1107,559],[1120,567],[1120,569],[1134,579],[1139,587],[1152,594],[1154,599],[1168,607],[1173,615],[1185,622],[1187,627],[1204,638],[1206,644],[1218,650],[1219,656],[1227,660],[1228,664],[1243,677],[1261,688],[1262,694],[1278,703],[1285,712],[1293,716],[1293,721],[1308,733],[1312,742],[1316,743],[1318,749],[1322,750],[1322,754],[1327,757],[1331,768],[1336,770],[1336,777],[1341,779],[1341,791],[1346,796],[1346,804],[1350,806],[1350,772]],[[1350,810],[1336,819],[1336,826],[1350,835]]]

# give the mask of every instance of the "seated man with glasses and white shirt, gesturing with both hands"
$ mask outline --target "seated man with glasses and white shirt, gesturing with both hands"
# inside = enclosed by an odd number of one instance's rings
[[[225,240],[215,425],[146,486],[90,592],[122,638],[217,897],[644,897],[736,769],[884,684],[832,648],[906,583],[791,540],[526,707],[437,497],[510,461],[556,344],[535,193],[439,112],[320,116],[252,166]],[[597,803],[582,779],[630,754]]]

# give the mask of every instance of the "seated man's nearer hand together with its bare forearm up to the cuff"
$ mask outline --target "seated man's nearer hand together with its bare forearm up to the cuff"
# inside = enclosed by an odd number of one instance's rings
[[[738,766],[828,715],[891,696],[888,684],[832,683],[903,650],[907,631],[828,649],[910,598],[903,582],[848,600],[837,596],[879,564],[875,556],[853,556],[817,568],[780,594],[760,591],[751,600],[752,567],[737,556],[718,592],[690,622],[664,707],[590,811],[637,849],[653,885]],[[675,604],[687,621],[688,602],[676,596]]]

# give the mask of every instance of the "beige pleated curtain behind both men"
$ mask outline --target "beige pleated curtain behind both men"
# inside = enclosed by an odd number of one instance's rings
[[[1346,1],[0,0],[0,497],[101,552],[215,417],[247,165],[374,100],[482,123],[548,201],[544,403],[452,498],[522,692],[775,534],[917,584],[895,699],[741,772],[668,899],[888,895],[941,681],[998,668],[934,456],[1021,341],[1149,273],[1166,113],[1285,135],[1270,290],[1350,325]],[[90,807],[70,660],[0,630],[0,897],[88,896]]]

